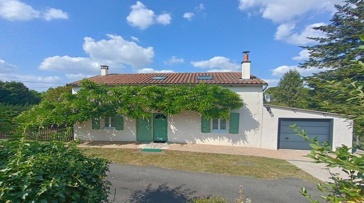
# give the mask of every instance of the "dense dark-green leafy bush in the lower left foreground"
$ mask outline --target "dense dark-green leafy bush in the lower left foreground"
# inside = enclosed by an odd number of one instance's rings
[[[0,202],[107,202],[109,161],[77,143],[0,142]]]

